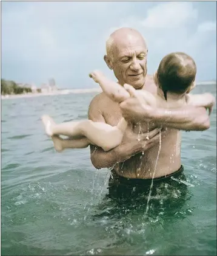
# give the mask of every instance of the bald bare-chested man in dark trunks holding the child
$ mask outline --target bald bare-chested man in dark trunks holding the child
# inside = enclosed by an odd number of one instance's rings
[[[156,94],[157,87],[152,77],[147,75],[147,45],[138,31],[129,28],[118,29],[110,35],[106,47],[105,63],[113,70],[120,85],[128,83],[135,89],[144,89]],[[91,161],[96,168],[112,167],[109,192],[115,197],[129,196],[145,190],[145,187],[148,191],[155,169],[154,184],[168,182],[171,176],[180,178],[183,167],[179,130],[206,130],[210,125],[209,115],[205,108],[200,107],[184,106],[174,110],[153,111],[145,109],[135,98],[119,105],[110,100],[104,92],[96,95],[90,103],[88,118],[93,122],[105,122],[115,126],[122,116],[129,120],[129,124],[121,145],[108,152],[90,146]],[[167,131],[161,133],[161,136],[158,134],[150,137],[149,126],[152,126],[152,122],[148,126],[147,123],[136,125],[138,121],[155,121],[155,125],[158,123],[159,127],[167,126]]]

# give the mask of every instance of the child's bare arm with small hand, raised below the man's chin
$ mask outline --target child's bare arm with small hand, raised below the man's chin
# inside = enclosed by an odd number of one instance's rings
[[[121,103],[124,100],[130,98],[129,92],[127,92],[123,86],[108,79],[100,71],[94,71],[89,75],[96,83],[99,83],[105,94],[115,102]]]

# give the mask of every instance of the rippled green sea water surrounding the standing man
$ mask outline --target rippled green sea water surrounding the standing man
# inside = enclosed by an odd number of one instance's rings
[[[216,106],[209,130],[182,132],[185,196],[159,193],[147,216],[145,199],[105,197],[110,173],[89,148],[56,153],[44,134],[42,114],[85,119],[94,95],[1,101],[1,255],[216,255]]]

